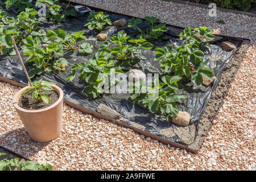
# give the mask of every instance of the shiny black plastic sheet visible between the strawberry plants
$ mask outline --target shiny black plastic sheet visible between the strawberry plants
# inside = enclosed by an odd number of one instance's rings
[[[44,28],[46,31],[55,30],[57,28],[61,28],[66,32],[75,32],[80,30],[86,31],[87,40],[85,42],[89,42],[93,45],[94,52],[98,49],[98,44],[102,42],[98,42],[96,40],[96,33],[88,30],[84,27],[86,24],[86,17],[89,13],[86,14],[78,14],[76,18],[69,18],[66,22],[60,24],[54,24],[53,22],[45,22],[40,24],[41,28]],[[109,14],[109,18],[114,22],[115,20],[125,18],[129,20],[125,15],[117,15],[117,14]],[[142,25],[143,28],[143,25]],[[134,28],[127,27],[115,27],[108,26],[105,31],[102,33],[106,33],[108,38],[113,35],[117,35],[117,32],[120,30],[125,30],[125,32],[130,35],[134,32]],[[183,40],[177,39],[178,35],[176,35],[172,31],[167,31],[167,35],[170,35],[170,39],[162,42],[160,47],[164,47],[168,44],[172,44],[174,48],[180,46],[183,43]],[[229,40],[233,42],[238,48],[240,48],[242,41],[234,41],[232,39]],[[79,42],[78,44],[81,44]],[[20,48],[20,53],[22,55],[22,48]],[[213,71],[216,76],[214,83],[212,86],[196,86],[192,82],[188,82],[187,84],[180,85],[180,89],[177,90],[176,93],[184,93],[189,96],[187,100],[182,100],[182,104],[180,105],[180,110],[187,111],[191,115],[191,124],[196,126],[196,134],[198,131],[198,123],[200,118],[202,117],[207,104],[210,100],[210,96],[213,90],[216,88],[218,82],[221,80],[221,72],[228,65],[230,59],[232,59],[234,53],[236,53],[237,49],[233,51],[226,51],[221,48],[220,43],[216,43],[211,46],[208,52],[205,53],[204,61],[209,65],[209,68]],[[93,53],[94,53],[93,52]],[[147,60],[140,61],[135,64],[133,69],[140,69],[144,73],[162,73],[163,69],[159,66],[159,61],[154,61],[154,52],[146,51],[142,49],[140,51],[141,55],[147,58]],[[172,123],[166,122],[166,117],[151,114],[149,111],[142,109],[136,104],[131,102],[129,94],[105,94],[102,98],[98,98],[96,100],[89,100],[83,94],[83,83],[79,80],[78,76],[75,78],[73,82],[66,82],[66,78],[71,73],[72,65],[75,63],[88,63],[90,57],[93,54],[88,56],[80,56],[78,51],[66,51],[63,56],[69,62],[69,67],[65,72],[48,72],[43,73],[43,80],[56,82],[60,88],[64,91],[64,99],[73,102],[74,104],[81,105],[86,107],[87,109],[96,111],[96,108],[99,104],[105,104],[110,108],[116,110],[118,113],[122,114],[123,118],[129,119],[129,121],[137,122],[145,127],[142,129],[151,134],[158,135],[165,139],[171,140],[172,142],[184,143],[183,140],[180,139],[178,135],[174,137],[168,138],[165,135],[160,134],[160,130],[167,127],[176,127],[172,125]],[[23,61],[26,60],[27,56],[22,56]],[[27,65],[27,69],[30,67]],[[23,84],[27,84],[27,78],[22,70],[22,66],[18,60],[18,56],[0,56],[0,76],[10,78],[11,80],[21,82]],[[40,77],[40,78],[41,78]],[[39,80],[39,77],[33,78],[33,80]],[[125,122],[130,125],[129,122]],[[185,144],[186,145],[186,144]]]

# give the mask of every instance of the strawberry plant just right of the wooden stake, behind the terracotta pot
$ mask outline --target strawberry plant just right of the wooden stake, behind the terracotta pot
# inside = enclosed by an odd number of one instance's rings
[[[51,71],[50,65],[55,54],[63,55],[63,45],[57,43],[51,43],[47,47],[39,48],[42,43],[40,37],[32,38],[28,36],[24,40],[23,53],[29,55],[26,59],[26,63],[30,63],[36,68],[32,68],[28,75],[32,78],[35,75],[40,75],[43,71]]]

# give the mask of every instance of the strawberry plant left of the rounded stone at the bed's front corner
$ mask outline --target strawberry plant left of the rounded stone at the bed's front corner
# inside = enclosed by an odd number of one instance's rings
[[[177,95],[175,90],[178,89],[177,82],[181,80],[180,76],[163,76],[159,83],[159,78],[155,78],[154,84],[151,87],[143,85],[142,81],[139,84],[133,85],[133,93],[130,94],[132,100],[151,113],[165,115],[167,121],[179,113],[180,100],[188,98],[185,94]],[[144,87],[144,88],[143,88]],[[156,90],[154,93],[148,89]],[[143,92],[146,90],[147,92]]]

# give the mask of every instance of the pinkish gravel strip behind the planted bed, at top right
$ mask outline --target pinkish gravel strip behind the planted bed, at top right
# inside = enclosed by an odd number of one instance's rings
[[[136,16],[138,18],[156,16],[162,22],[179,27],[189,26],[196,28],[199,26],[211,26],[214,29],[214,34],[247,38],[251,40],[251,43],[256,43],[255,16],[252,17],[217,10],[217,16],[210,17],[208,15],[209,9],[163,0],[72,1],[116,13]],[[224,20],[225,24],[216,23],[217,20],[221,19]]]

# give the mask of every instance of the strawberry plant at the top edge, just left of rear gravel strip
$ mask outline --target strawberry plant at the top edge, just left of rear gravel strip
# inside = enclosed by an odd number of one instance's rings
[[[48,6],[48,9],[46,10],[46,18],[58,23],[65,22],[66,18],[70,15],[71,16],[76,15],[76,10],[74,9],[67,10],[71,1],[68,2],[68,6],[65,8],[65,10],[63,10],[60,5],[56,5],[55,2],[59,2],[59,1],[37,0],[35,5],[38,6],[40,3],[45,3]]]

